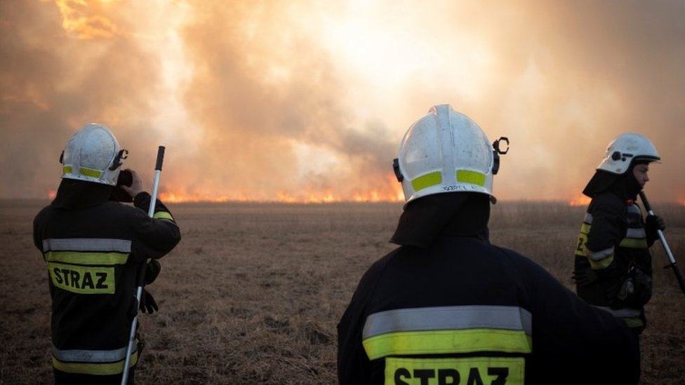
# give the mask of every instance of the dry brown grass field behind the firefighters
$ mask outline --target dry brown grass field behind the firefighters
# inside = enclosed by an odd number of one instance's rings
[[[47,202],[0,201],[0,384],[51,384],[47,273],[31,222]],[[658,205],[685,264],[685,208]],[[138,384],[336,384],[335,326],[361,274],[392,250],[399,203],[171,205],[183,239],[148,289]],[[500,202],[491,241],[572,287],[583,207]],[[642,384],[685,384],[685,296],[653,248]],[[682,266],[681,266],[682,269]],[[610,358],[609,358],[610,359]]]

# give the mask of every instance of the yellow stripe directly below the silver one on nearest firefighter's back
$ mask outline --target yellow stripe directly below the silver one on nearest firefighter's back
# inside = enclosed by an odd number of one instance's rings
[[[473,351],[530,353],[532,339],[523,330],[465,329],[392,332],[364,339],[370,360],[403,354],[450,354]]]

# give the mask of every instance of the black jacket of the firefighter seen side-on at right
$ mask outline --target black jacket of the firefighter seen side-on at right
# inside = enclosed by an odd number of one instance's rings
[[[652,291],[652,262],[639,205],[604,191],[592,198],[580,227],[574,265],[578,295],[644,327],[644,304]]]

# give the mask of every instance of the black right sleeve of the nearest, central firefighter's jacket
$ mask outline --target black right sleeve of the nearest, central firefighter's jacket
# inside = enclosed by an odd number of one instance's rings
[[[525,288],[522,302],[533,313],[533,383],[637,384],[639,345],[625,323],[584,302],[539,265],[524,264],[516,269]]]

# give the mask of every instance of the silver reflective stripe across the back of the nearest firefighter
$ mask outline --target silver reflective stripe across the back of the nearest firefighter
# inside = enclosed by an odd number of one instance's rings
[[[518,306],[440,306],[394,309],[366,318],[363,338],[390,332],[486,327],[532,332],[532,316]]]

